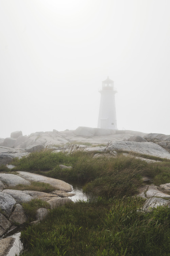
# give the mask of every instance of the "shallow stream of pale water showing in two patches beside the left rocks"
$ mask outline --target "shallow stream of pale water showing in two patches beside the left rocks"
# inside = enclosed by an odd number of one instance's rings
[[[87,196],[83,193],[82,190],[82,184],[81,183],[75,183],[75,184],[71,184],[70,185],[73,186],[73,191],[71,191],[70,193],[74,193],[75,196],[73,197],[69,197],[73,202],[77,201],[77,200],[83,200],[86,201],[87,200]],[[10,251],[8,252],[7,256],[15,256],[16,254],[19,255],[19,252],[22,250],[23,246],[22,243],[20,241],[20,234],[23,228],[15,228],[13,230],[11,230],[10,232],[8,232],[5,237],[13,237],[15,238],[15,242],[14,245],[12,246],[12,248],[10,249]]]

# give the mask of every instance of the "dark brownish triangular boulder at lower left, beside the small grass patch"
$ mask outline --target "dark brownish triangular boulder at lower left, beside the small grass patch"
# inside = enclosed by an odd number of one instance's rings
[[[24,224],[27,221],[27,217],[24,210],[20,204],[15,205],[15,210],[12,212],[9,221],[11,223],[18,223],[19,225]]]

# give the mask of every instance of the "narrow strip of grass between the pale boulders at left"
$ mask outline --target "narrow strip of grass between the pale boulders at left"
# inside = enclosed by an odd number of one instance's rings
[[[56,190],[55,187],[51,186],[48,183],[32,181],[31,185],[18,184],[15,187],[8,186],[5,189],[16,189],[16,190],[32,190],[32,191],[40,191],[45,193],[51,193]]]

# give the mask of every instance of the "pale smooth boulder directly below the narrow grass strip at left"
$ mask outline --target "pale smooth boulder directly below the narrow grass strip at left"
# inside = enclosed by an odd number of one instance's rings
[[[21,190],[15,190],[15,189],[4,189],[3,193],[6,193],[10,196],[12,196],[17,203],[27,203],[33,199],[32,196],[24,193]]]

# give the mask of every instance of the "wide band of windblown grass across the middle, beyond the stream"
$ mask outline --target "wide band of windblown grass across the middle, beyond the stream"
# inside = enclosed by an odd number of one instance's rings
[[[20,160],[14,159],[14,170],[30,171],[66,182],[86,183],[86,193],[106,197],[134,195],[142,184],[142,176],[151,177],[155,185],[170,182],[170,161],[167,159],[148,163],[136,158],[136,154],[124,156],[122,153],[115,158],[96,159],[93,158],[95,153],[72,151],[66,154],[48,150],[34,152]],[[73,168],[61,169],[60,164]]]

